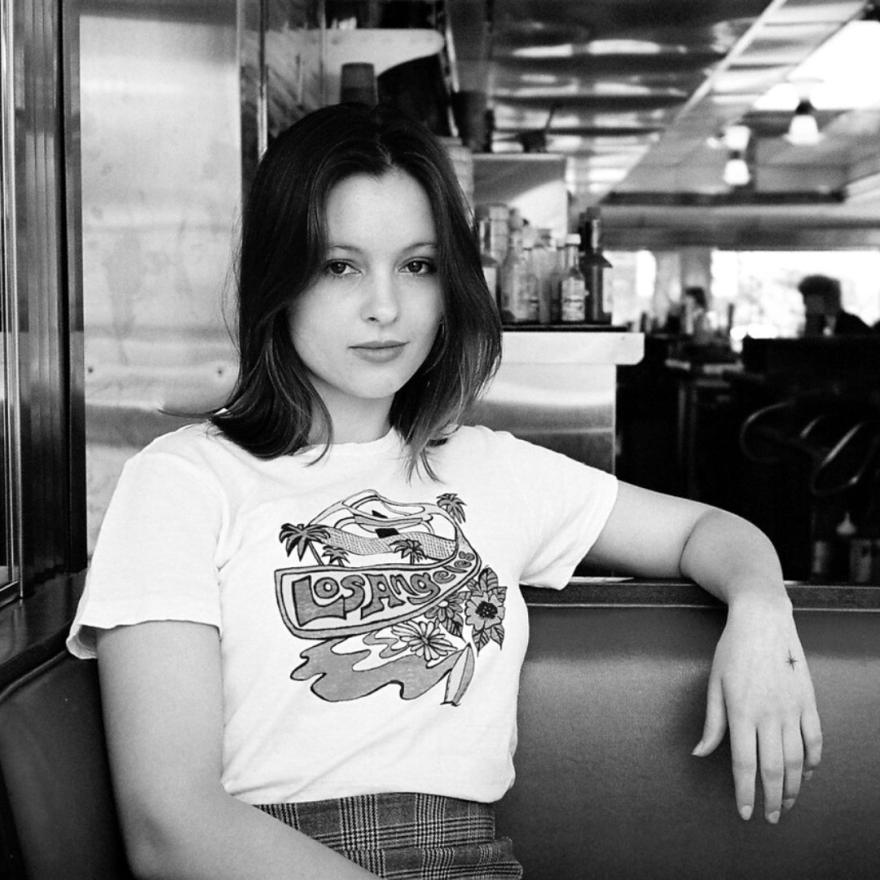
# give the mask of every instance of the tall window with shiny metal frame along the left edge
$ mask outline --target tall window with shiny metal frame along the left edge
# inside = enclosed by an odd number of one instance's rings
[[[0,3],[0,601],[85,567],[78,4]]]

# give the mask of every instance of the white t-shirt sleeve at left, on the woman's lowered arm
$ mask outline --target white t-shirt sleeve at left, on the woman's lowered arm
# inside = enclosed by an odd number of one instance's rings
[[[150,451],[123,468],[67,639],[95,656],[95,629],[154,620],[221,625],[217,545],[223,500],[210,474]]]

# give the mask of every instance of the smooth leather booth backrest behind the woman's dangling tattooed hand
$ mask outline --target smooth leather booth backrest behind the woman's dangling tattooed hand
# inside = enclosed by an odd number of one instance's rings
[[[527,880],[880,878],[880,613],[796,613],[826,745],[775,826],[760,797],[737,815],[726,738],[690,754],[724,615],[530,609],[517,780],[498,809]]]

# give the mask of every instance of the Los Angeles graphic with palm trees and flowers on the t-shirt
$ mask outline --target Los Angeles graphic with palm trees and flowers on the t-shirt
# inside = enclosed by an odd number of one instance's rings
[[[333,702],[389,684],[410,700],[446,679],[443,702],[458,705],[480,652],[504,643],[507,595],[461,529],[464,508],[453,493],[413,504],[365,490],[282,525],[300,564],[275,572],[278,608],[315,641],[291,678],[315,678]]]

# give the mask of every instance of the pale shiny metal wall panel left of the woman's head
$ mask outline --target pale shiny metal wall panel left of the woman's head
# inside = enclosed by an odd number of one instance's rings
[[[81,21],[90,547],[124,460],[179,424],[159,410],[210,406],[234,378],[236,3],[203,8],[111,2]]]

